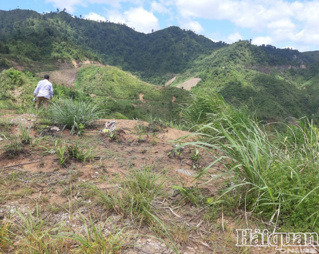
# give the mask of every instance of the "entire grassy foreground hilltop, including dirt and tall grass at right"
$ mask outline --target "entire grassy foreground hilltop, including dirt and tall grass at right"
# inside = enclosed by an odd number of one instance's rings
[[[254,253],[235,246],[236,228],[319,233],[319,131],[307,118],[276,131],[246,107],[197,94],[180,121],[135,121],[104,134],[104,123],[94,123],[102,112],[87,101],[61,92],[44,112],[10,99],[11,86],[32,79],[11,72],[2,76],[2,108],[38,119],[31,127],[1,113],[3,253],[134,253],[152,244],[159,248],[147,251]],[[57,135],[53,123],[65,130]],[[193,132],[171,144],[162,138],[168,125]],[[37,166],[12,166],[30,158]],[[18,200],[30,209],[9,205]]]

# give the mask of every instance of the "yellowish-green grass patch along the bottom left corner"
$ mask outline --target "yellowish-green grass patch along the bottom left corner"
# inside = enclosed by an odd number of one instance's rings
[[[109,218],[93,220],[82,213],[79,218],[71,216],[84,228],[75,232],[65,227],[65,220],[50,225],[47,216],[41,217],[38,205],[34,215],[30,210],[26,210],[26,215],[15,213],[15,220],[0,220],[0,253],[113,254],[120,253],[124,245],[125,227],[117,229]]]

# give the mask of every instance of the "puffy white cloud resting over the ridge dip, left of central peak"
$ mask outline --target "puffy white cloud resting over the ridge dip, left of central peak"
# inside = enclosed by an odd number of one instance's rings
[[[151,33],[152,29],[159,29],[158,19],[152,12],[146,11],[142,7],[130,8],[124,13],[109,11],[108,19],[115,23],[126,23],[128,26],[134,27],[135,30],[143,33]]]

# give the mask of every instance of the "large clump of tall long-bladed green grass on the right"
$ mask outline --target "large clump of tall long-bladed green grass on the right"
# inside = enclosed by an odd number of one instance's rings
[[[295,126],[287,125],[284,132],[268,133],[245,109],[226,106],[221,97],[210,104],[215,106],[211,110],[203,103],[207,96],[196,98],[198,114],[193,105],[187,105],[183,116],[196,116],[193,123],[205,124],[184,137],[197,141],[181,146],[199,147],[211,154],[211,163],[197,177],[214,169],[217,176],[211,180],[225,180],[218,202],[256,216],[262,213],[264,220],[282,228],[319,232],[318,129],[302,119]],[[224,165],[222,171],[214,168],[217,162]]]

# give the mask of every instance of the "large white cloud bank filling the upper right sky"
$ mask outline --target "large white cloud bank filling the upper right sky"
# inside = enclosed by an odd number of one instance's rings
[[[319,0],[175,0],[174,3],[185,18],[227,20],[237,27],[269,34],[256,37],[258,43],[266,39],[275,43],[290,40],[319,45],[319,15],[315,14],[315,10],[319,10]]]

